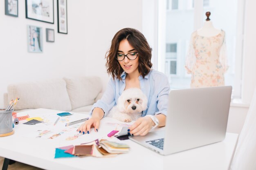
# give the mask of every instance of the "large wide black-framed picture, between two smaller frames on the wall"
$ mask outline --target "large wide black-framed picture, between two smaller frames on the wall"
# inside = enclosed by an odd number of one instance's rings
[[[26,18],[54,24],[53,0],[26,0]]]

